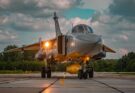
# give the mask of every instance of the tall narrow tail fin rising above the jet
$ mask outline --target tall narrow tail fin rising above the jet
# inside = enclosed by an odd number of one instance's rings
[[[53,19],[54,19],[54,22],[55,22],[56,37],[61,36],[62,33],[61,33],[61,30],[60,30],[60,26],[59,26],[58,17],[57,17],[56,12],[54,12]]]

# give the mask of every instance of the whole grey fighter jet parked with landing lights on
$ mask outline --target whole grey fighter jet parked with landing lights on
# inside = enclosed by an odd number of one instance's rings
[[[102,42],[100,35],[94,34],[93,29],[86,24],[78,24],[67,34],[61,32],[58,16],[54,13],[56,37],[50,40],[39,39],[38,43],[15,48],[6,52],[37,50],[35,58],[48,63],[42,68],[41,76],[51,77],[49,62],[76,62],[67,67],[70,73],[78,73],[78,78],[93,77],[93,67],[89,66],[90,60],[99,60],[106,57],[106,52],[115,51]],[[52,60],[53,59],[53,60]]]

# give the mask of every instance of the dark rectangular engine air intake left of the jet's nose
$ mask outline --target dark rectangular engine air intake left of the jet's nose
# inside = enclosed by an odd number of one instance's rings
[[[57,46],[58,54],[67,54],[67,40],[65,35],[60,35],[57,37]]]

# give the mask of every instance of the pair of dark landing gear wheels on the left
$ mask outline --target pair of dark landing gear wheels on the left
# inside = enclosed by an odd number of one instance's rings
[[[51,67],[42,67],[41,77],[42,78],[51,78]]]

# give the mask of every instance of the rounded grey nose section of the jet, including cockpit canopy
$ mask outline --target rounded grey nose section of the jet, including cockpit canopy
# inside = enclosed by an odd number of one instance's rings
[[[101,36],[93,33],[88,25],[79,24],[67,34],[67,53],[94,56],[102,51]]]

